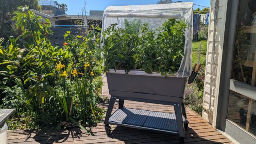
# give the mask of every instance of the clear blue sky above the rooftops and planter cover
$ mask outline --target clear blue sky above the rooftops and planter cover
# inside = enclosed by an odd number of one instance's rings
[[[158,0],[86,0],[86,11],[90,10],[104,10],[108,6],[119,5],[152,5]],[[178,0],[173,0],[174,2]],[[210,0],[180,0],[183,2],[194,2],[197,5],[203,5],[210,7]],[[84,7],[85,0],[57,0],[58,3],[64,3],[68,5],[67,14],[81,14],[81,9]],[[194,9],[199,6],[194,5]],[[203,7],[199,7],[203,9]]]

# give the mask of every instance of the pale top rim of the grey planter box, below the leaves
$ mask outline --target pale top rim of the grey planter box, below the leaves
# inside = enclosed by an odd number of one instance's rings
[[[126,74],[125,70],[114,70],[114,69],[110,69],[109,71],[107,71],[107,73],[117,73],[117,74]],[[133,69],[130,70],[129,73],[127,73],[127,75],[144,75],[144,76],[155,76],[155,77],[165,77],[163,75],[161,75],[160,73],[156,73],[156,72],[152,72],[152,73],[146,73],[145,71],[139,70],[139,69]],[[187,78],[189,76],[182,76],[182,75],[178,75],[177,73],[174,73],[174,75],[169,75],[167,74],[167,77],[172,77],[172,78]]]

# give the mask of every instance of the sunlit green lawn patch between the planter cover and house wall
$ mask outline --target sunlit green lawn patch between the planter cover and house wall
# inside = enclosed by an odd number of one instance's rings
[[[192,43],[192,65],[198,62],[198,54],[199,54],[199,43],[201,42],[201,55],[200,55],[200,63],[204,67],[204,61],[206,60],[206,49],[207,49],[207,41],[199,41]]]

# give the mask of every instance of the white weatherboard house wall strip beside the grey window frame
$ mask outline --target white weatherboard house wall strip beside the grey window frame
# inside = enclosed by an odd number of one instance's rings
[[[226,9],[228,0],[219,0],[218,14],[217,14],[217,25],[216,25],[216,42],[215,42],[215,60],[211,76],[211,61],[213,53],[213,25],[214,25],[214,9],[216,0],[211,0],[210,3],[210,20],[208,27],[208,41],[207,41],[207,54],[206,54],[206,70],[205,70],[205,83],[203,92],[203,118],[210,122],[214,127],[216,125],[216,112],[217,112],[217,99],[219,95],[219,81],[221,74],[222,64],[222,51],[224,43],[224,28],[226,20]],[[212,91],[210,94],[210,85],[212,85]],[[206,111],[210,105],[211,96],[211,110]]]

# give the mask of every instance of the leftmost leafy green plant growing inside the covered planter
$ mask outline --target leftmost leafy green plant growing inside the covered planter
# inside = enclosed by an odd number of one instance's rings
[[[135,55],[135,47],[139,43],[139,32],[130,31],[130,29],[130,27],[128,29],[118,28],[117,24],[112,24],[104,31],[105,71],[114,68],[123,69],[128,73],[134,69],[133,55]]]

